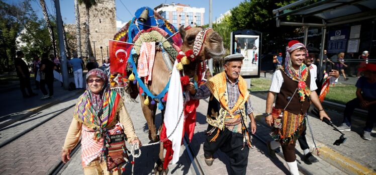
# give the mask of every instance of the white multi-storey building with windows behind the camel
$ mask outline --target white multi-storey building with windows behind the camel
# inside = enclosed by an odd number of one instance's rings
[[[164,19],[176,28],[180,26],[198,27],[204,25],[205,8],[195,8],[183,4],[161,4],[154,8]]]

